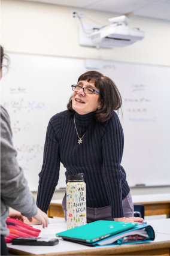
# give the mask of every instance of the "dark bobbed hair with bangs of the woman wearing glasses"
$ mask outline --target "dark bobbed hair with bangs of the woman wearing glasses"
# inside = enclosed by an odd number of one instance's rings
[[[99,122],[105,122],[111,118],[114,110],[120,109],[122,106],[122,97],[113,80],[97,71],[87,71],[78,77],[77,83],[80,81],[90,82],[90,80],[94,81],[95,87],[101,93],[102,109],[96,110],[95,118]],[[72,109],[72,96],[69,99],[67,109],[69,112],[75,112]]]

